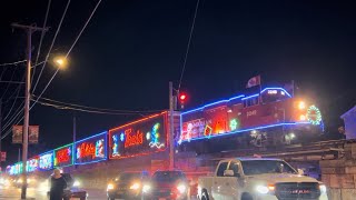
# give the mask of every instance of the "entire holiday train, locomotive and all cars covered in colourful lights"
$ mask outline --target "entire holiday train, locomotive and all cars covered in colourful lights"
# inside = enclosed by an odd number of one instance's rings
[[[168,152],[168,116],[152,114],[29,158],[27,171]],[[319,109],[284,88],[248,91],[184,111],[174,123],[177,149],[196,152],[309,142],[324,128]],[[22,162],[7,171],[21,173]]]

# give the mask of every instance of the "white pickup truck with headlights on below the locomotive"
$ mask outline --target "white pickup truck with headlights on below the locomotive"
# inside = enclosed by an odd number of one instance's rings
[[[221,160],[214,177],[198,180],[200,200],[327,200],[326,187],[280,159]]]

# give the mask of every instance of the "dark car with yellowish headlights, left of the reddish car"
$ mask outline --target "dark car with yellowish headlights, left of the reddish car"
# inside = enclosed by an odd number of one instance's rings
[[[108,200],[115,199],[144,199],[144,186],[149,181],[149,173],[122,172],[112,179],[107,187]]]

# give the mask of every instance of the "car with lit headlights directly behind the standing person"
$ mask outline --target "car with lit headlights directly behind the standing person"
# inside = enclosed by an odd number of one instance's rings
[[[67,188],[65,189],[63,200],[69,200],[71,198],[78,198],[80,200],[86,200],[88,197],[88,192],[80,188],[80,182],[75,180],[70,173],[61,173],[67,182]],[[47,187],[47,196],[49,196],[50,189],[50,179],[46,180],[46,182],[41,187]]]

